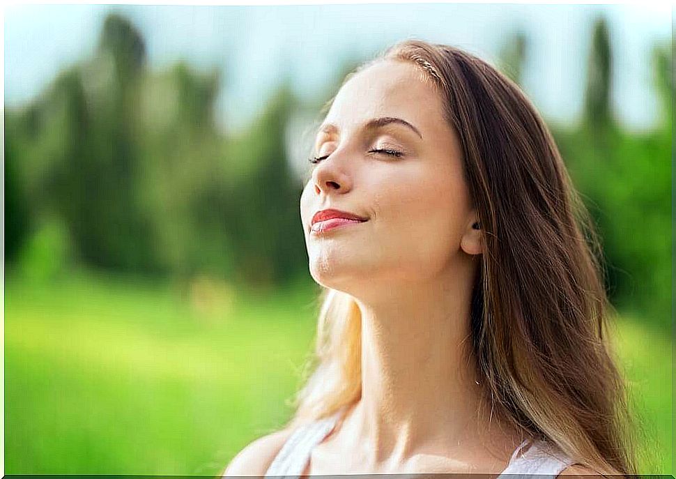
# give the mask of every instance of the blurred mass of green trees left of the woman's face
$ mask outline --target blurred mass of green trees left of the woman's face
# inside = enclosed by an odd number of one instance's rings
[[[8,112],[8,260],[50,218],[69,231],[73,265],[259,284],[305,271],[300,188],[284,153],[289,86],[246,135],[224,137],[219,75],[185,63],[153,73],[145,51],[135,26],[109,15],[93,58]]]

